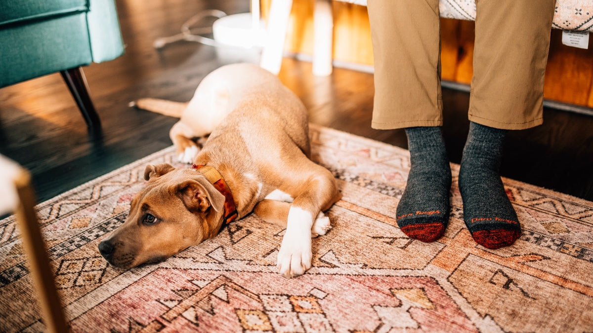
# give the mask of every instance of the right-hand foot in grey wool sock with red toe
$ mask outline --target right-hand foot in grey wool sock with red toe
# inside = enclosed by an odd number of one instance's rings
[[[459,171],[463,219],[474,241],[489,249],[511,245],[521,236],[499,174],[505,135],[506,130],[471,122]]]

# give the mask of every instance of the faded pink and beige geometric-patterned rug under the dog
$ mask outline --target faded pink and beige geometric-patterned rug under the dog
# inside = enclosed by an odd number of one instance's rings
[[[313,239],[313,268],[275,273],[283,230],[256,215],[157,265],[117,270],[97,244],[125,220],[148,156],[38,206],[73,331],[582,332],[593,329],[593,203],[504,180],[515,245],[476,245],[453,165],[451,222],[425,244],[397,228],[409,154],[312,126],[314,159],[343,199]],[[42,331],[13,217],[0,222],[0,331]]]

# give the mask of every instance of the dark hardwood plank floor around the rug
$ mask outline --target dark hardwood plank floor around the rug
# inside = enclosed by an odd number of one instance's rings
[[[227,61],[213,47],[181,41],[161,51],[157,37],[204,9],[232,14],[248,1],[117,1],[126,53],[85,68],[103,133],[89,137],[84,120],[59,73],[0,89],[0,153],[29,169],[39,201],[171,145],[176,119],[127,104],[141,97],[187,101],[200,80]],[[284,59],[282,81],[310,110],[313,123],[406,148],[403,130],[373,130],[372,75],[335,69],[327,78],[311,64]],[[566,82],[570,84],[570,82]],[[458,163],[468,132],[468,94],[444,89],[444,134]],[[593,117],[545,110],[544,125],[511,132],[505,177],[593,200]]]

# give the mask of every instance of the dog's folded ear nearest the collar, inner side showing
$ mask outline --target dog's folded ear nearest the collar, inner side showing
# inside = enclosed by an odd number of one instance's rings
[[[192,213],[206,212],[210,206],[219,212],[224,207],[225,197],[205,178],[180,182],[175,193]]]

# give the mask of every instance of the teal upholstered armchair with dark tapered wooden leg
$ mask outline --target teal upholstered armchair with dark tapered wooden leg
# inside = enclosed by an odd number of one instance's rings
[[[89,129],[100,120],[81,66],[122,53],[114,0],[0,0],[0,87],[60,72]]]

